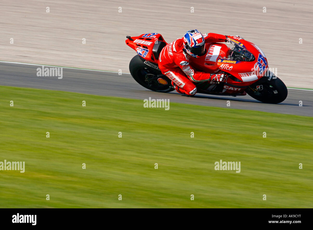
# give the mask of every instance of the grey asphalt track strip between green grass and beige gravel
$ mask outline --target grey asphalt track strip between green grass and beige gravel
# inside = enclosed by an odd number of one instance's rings
[[[58,79],[58,77],[38,77],[38,67],[41,66],[0,62],[0,85],[141,100],[151,97],[194,105],[313,116],[313,91],[310,90],[288,89],[287,99],[276,105],[261,103],[249,95],[232,97],[197,94],[194,98],[190,98],[179,95],[176,91],[171,93],[153,92],[139,85],[130,74],[118,75],[114,72],[63,68],[63,78]],[[230,107],[226,106],[227,100],[231,101]],[[302,107],[299,106],[300,100],[303,103]]]

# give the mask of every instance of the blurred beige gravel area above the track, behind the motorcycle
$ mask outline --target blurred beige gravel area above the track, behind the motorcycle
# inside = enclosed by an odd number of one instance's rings
[[[264,51],[287,87],[313,88],[310,0],[13,0],[0,8],[2,61],[129,73],[136,53],[126,35],[161,33],[169,43],[196,28],[242,36]]]

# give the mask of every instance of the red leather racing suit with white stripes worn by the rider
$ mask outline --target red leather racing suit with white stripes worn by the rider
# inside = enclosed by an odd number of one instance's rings
[[[217,33],[203,34],[205,43],[225,42],[226,36]],[[177,91],[186,95],[195,95],[197,87],[193,82],[211,80],[211,74],[199,72],[189,64],[190,55],[183,52],[183,38],[167,44],[159,56],[159,68],[162,74],[178,86]]]

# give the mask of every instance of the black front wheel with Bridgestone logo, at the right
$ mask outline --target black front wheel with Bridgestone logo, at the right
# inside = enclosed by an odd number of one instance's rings
[[[279,78],[271,79],[270,81],[267,78],[260,79],[250,85],[245,91],[258,101],[272,104],[284,101],[288,95],[286,85]]]

